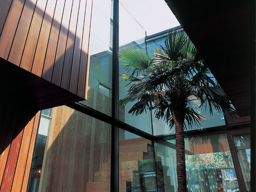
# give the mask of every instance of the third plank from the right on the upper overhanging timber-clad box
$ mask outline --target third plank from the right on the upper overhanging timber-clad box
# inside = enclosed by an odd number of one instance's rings
[[[70,16],[69,28],[68,28],[68,39],[66,43],[66,52],[63,64],[63,72],[61,78],[60,86],[66,90],[69,90],[71,69],[72,69],[72,60],[73,60],[73,51],[74,43],[76,39],[76,27],[78,20],[78,10],[80,5],[80,0],[73,0],[72,11]],[[72,86],[77,86],[74,84]]]

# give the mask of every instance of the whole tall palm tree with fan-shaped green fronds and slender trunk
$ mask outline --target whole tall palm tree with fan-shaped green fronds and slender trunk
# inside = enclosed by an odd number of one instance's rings
[[[219,112],[235,111],[183,30],[168,32],[165,47],[155,48],[153,58],[132,47],[119,51],[119,61],[126,65],[122,78],[131,84],[119,103],[125,106],[136,102],[129,113],[137,116],[153,110],[154,116],[164,119],[170,128],[175,125],[178,192],[185,192],[184,122],[192,126],[204,120],[190,102],[198,100],[199,108],[208,106],[210,114],[213,108]]]

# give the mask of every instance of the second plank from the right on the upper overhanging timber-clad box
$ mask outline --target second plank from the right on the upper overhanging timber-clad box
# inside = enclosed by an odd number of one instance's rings
[[[80,0],[80,8],[78,13],[78,21],[77,21],[77,28],[76,28],[76,39],[74,42],[72,71],[71,71],[70,85],[69,85],[70,92],[74,94],[76,94],[77,92],[85,8],[86,8],[86,0]]]

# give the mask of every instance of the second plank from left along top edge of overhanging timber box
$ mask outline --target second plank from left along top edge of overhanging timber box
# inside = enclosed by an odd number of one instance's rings
[[[0,37],[0,57],[7,60],[25,0],[13,0]]]

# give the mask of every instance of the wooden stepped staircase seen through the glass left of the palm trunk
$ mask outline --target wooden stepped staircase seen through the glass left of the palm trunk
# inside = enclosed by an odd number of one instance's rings
[[[110,158],[101,164],[101,171],[94,173],[94,182],[88,182],[86,192],[106,192],[110,189]],[[153,147],[149,140],[135,138],[119,142],[119,191],[129,191],[134,174],[138,174],[138,164],[143,160],[154,159]]]

